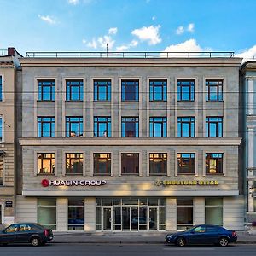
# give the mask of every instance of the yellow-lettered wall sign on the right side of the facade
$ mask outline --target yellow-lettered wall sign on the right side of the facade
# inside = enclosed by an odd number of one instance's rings
[[[217,180],[157,180],[155,182],[157,186],[216,186]]]

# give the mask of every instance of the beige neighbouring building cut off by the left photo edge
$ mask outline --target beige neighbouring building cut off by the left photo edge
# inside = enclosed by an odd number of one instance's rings
[[[15,79],[20,57],[0,50],[0,224],[15,221]]]

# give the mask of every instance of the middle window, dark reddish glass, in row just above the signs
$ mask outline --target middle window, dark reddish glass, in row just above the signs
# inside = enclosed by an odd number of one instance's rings
[[[139,154],[121,154],[122,174],[139,174]]]

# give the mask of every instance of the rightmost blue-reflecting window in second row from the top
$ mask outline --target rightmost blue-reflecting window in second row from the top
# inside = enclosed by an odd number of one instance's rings
[[[206,118],[206,137],[223,137],[223,118]]]

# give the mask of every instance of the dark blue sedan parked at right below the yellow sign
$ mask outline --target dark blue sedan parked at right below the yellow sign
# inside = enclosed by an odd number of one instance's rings
[[[216,225],[196,225],[189,230],[168,234],[167,243],[174,243],[179,247],[187,244],[215,244],[226,247],[230,242],[236,242],[236,231],[226,230]]]

